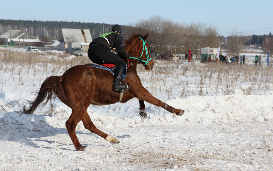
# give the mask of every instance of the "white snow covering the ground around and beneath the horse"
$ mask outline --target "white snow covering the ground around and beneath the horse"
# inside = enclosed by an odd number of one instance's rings
[[[26,53],[21,49],[12,50]],[[246,55],[246,65],[254,65],[255,55]],[[76,57],[67,57],[72,58]],[[265,54],[262,54],[262,60],[262,67],[266,67]],[[166,64],[159,61],[154,68],[164,70]],[[250,95],[241,90],[240,86],[247,86],[244,83],[227,95],[211,91],[206,96],[181,98],[181,87],[164,84],[167,89],[163,91],[159,88],[162,82],[158,81],[157,86],[149,82],[148,77],[156,70],[138,72],[149,92],[163,102],[185,110],[185,114],[177,116],[146,102],[148,116],[141,119],[137,99],[125,104],[90,105],[88,114],[92,122],[101,131],[120,140],[120,144],[112,145],[79,123],[76,134],[80,143],[87,146],[79,152],[65,127],[71,109],[58,98],[52,106],[48,103],[44,108],[38,107],[33,115],[22,113],[25,99],[32,100],[35,95],[31,92],[39,89],[43,80],[50,76],[42,65],[37,63],[24,68],[5,63],[0,67],[0,170],[273,169],[272,84],[269,84],[270,88],[260,88]],[[180,71],[203,64],[179,61],[169,65]],[[138,70],[142,67],[139,65]],[[54,64],[48,64],[47,68],[55,69],[52,71],[55,75],[62,75],[67,66],[56,70]],[[180,82],[187,79],[190,87],[198,86],[194,84],[194,80],[199,79],[197,76],[177,78]],[[172,79],[165,80],[172,82]],[[204,84],[211,82],[205,80]]]

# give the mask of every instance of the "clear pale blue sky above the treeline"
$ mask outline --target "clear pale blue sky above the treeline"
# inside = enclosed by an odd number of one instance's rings
[[[273,33],[273,0],[13,0],[0,2],[0,19],[134,25],[160,16],[178,23],[206,23],[220,35]]]

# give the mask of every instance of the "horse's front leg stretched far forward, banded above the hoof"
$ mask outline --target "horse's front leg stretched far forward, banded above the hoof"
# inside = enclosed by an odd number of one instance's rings
[[[183,115],[184,114],[184,110],[181,110],[181,109],[176,109],[172,106],[169,106],[168,104],[162,102],[161,100],[153,97],[152,94],[149,93],[148,90],[146,90],[144,87],[142,87],[141,91],[139,91],[138,93],[138,100],[140,102],[140,106],[141,106],[141,101],[146,101],[146,102],[149,102],[153,105],[156,105],[156,106],[160,106],[162,108],[164,108],[165,110],[171,112],[171,113],[174,113],[176,115]],[[144,105],[144,102],[143,102],[143,105]],[[144,108],[145,108],[145,105],[144,105]],[[139,108],[141,109],[141,107]]]

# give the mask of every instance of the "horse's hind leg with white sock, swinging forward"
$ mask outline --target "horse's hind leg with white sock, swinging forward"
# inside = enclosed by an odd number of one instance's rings
[[[103,131],[100,131],[91,121],[90,116],[88,115],[87,111],[84,112],[84,117],[83,117],[82,121],[84,123],[84,127],[86,129],[88,129],[89,131],[91,131],[92,133],[101,136],[102,138],[104,138],[105,140],[109,141],[112,144],[120,143],[120,141],[117,140],[116,138],[114,138],[108,134],[105,134]]]

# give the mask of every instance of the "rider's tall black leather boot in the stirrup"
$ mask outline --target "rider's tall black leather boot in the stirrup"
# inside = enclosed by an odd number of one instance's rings
[[[126,84],[121,84],[124,68],[117,67],[114,75],[113,89],[114,91],[127,91],[130,87]]]

